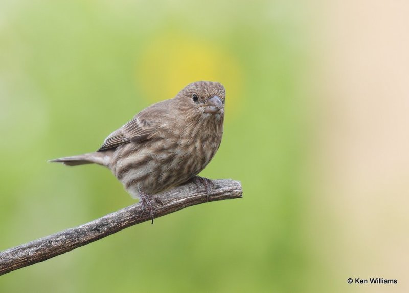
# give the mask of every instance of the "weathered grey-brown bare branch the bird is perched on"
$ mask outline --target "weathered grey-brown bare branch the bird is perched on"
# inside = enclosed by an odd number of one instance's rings
[[[213,183],[215,186],[210,189],[209,201],[242,197],[240,181],[222,179],[213,180]],[[190,183],[157,195],[163,205],[152,201],[154,217],[207,202],[206,191],[202,189],[197,191],[196,186]],[[84,225],[4,250],[0,252],[0,275],[69,252],[145,221],[150,221],[149,210],[146,208],[143,213],[141,204],[137,203]]]

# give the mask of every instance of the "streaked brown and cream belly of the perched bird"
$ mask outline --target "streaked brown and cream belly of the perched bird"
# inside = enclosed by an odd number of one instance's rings
[[[178,141],[168,148],[140,149],[118,160],[114,174],[131,195],[141,191],[153,195],[197,175],[217,148],[217,142],[197,140]]]

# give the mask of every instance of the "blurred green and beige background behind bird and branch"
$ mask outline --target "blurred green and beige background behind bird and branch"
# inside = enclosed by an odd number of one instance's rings
[[[4,275],[0,292],[407,292],[407,15],[380,0],[0,0],[0,250],[133,204],[100,166],[46,161],[196,80],[227,91],[201,175],[244,190]]]

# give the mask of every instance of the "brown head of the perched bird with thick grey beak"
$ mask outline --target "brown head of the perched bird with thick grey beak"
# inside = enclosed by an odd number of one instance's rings
[[[176,98],[188,109],[194,109],[196,114],[223,118],[225,96],[226,92],[221,83],[197,81],[187,85]]]

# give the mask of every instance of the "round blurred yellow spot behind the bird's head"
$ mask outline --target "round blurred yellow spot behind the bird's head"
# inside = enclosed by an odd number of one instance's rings
[[[243,90],[240,66],[217,44],[189,35],[167,35],[153,40],[141,54],[137,79],[144,97],[154,102],[173,98],[194,81],[218,81],[226,88],[226,115],[234,114],[240,107]]]

